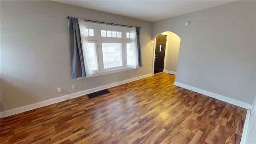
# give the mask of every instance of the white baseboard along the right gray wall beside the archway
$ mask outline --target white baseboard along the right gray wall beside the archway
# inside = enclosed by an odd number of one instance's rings
[[[240,102],[240,101],[238,101],[238,100],[234,100],[234,99],[228,98],[228,97],[226,97],[226,96],[221,96],[221,95],[219,95],[219,94],[214,94],[214,93],[212,93],[212,92],[208,92],[208,91],[206,91],[206,90],[202,90],[202,89],[199,89],[199,88],[195,88],[195,87],[193,87],[193,86],[188,86],[188,85],[186,85],[186,84],[182,84],[182,83],[179,83],[179,82],[174,82],[174,85],[180,86],[180,87],[182,87],[182,88],[186,88],[186,89],[188,89],[188,90],[192,90],[192,91],[194,91],[194,92],[198,92],[198,93],[200,93],[200,94],[204,94],[204,95],[206,95],[206,96],[210,96],[210,97],[212,97],[212,98],[216,98],[216,99],[218,99],[218,100],[222,100],[222,101],[224,101],[224,102],[228,102],[228,103],[230,103],[230,104],[234,104],[234,105],[236,105],[236,106],[240,106],[240,107],[242,107],[242,108],[248,109],[249,106],[250,106],[250,104],[247,104],[247,103],[245,103],[245,102]]]

